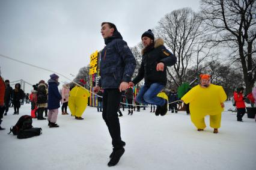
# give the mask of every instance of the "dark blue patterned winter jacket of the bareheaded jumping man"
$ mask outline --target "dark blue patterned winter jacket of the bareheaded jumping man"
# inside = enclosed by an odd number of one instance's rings
[[[130,82],[136,67],[135,58],[118,31],[105,38],[100,59],[99,85],[103,89],[119,88],[121,82]]]

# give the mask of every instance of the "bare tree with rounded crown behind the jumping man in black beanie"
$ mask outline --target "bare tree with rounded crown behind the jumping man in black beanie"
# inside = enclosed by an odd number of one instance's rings
[[[159,21],[157,35],[163,38],[166,46],[177,57],[174,68],[168,68],[168,76],[178,87],[186,82],[187,68],[198,65],[212,56],[212,47],[205,40],[208,28],[202,25],[200,14],[195,13],[190,8],[182,8],[166,14]],[[175,74],[172,74],[172,73]],[[197,74],[193,75],[197,77]],[[168,80],[171,83],[171,80]]]

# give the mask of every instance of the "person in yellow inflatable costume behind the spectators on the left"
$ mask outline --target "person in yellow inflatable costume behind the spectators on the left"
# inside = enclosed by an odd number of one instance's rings
[[[80,82],[81,81],[82,80],[80,80]],[[78,120],[84,119],[82,118],[82,114],[84,113],[87,107],[89,96],[90,96],[90,93],[82,87],[76,86],[70,91],[68,105],[69,105],[69,109],[72,116],[75,116],[76,119]]]

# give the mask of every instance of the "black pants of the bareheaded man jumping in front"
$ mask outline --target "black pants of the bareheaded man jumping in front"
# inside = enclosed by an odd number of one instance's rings
[[[118,108],[120,106],[121,93],[118,89],[105,89],[103,93],[102,117],[108,126],[109,134],[112,138],[114,148],[123,147],[121,141],[120,123],[118,118]]]

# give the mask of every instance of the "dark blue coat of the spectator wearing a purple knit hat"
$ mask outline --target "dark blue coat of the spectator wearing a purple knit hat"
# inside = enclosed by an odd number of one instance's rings
[[[57,82],[56,80],[49,79],[48,85],[48,109],[58,109],[60,107],[59,102],[62,98],[58,90],[59,82]]]

